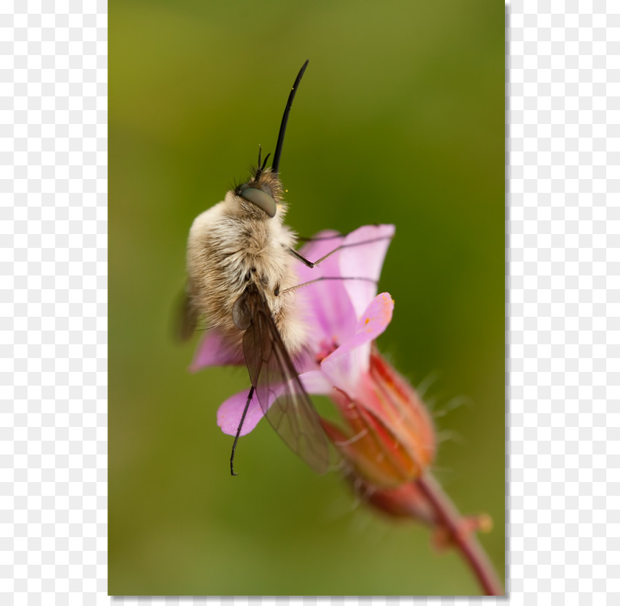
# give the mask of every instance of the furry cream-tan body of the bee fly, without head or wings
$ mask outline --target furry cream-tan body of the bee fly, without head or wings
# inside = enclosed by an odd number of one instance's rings
[[[251,284],[267,301],[287,351],[300,351],[304,328],[295,293],[294,260],[288,252],[296,238],[282,224],[285,205],[269,218],[260,209],[239,205],[229,192],[223,202],[194,220],[187,242],[189,300],[208,328],[217,328],[229,344],[241,343],[233,306]]]

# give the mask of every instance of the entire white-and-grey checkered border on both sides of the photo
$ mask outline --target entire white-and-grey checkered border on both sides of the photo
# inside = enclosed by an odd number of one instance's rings
[[[0,5],[3,604],[110,603],[106,10]],[[509,15],[508,592],[613,604],[620,15],[610,2]],[[299,598],[315,600],[331,602]]]

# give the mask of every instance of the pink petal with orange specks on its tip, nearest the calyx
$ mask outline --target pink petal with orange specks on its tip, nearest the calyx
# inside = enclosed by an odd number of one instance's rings
[[[321,362],[321,370],[333,385],[351,397],[360,387],[360,375],[369,368],[371,342],[392,320],[394,302],[389,293],[381,293],[366,308],[355,333]]]

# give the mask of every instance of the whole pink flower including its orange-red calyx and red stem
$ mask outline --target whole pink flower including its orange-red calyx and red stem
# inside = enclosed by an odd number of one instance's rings
[[[344,246],[314,269],[302,264],[298,268],[300,284],[336,278],[314,282],[295,294],[308,328],[307,352],[295,360],[299,379],[307,393],[331,397],[340,412],[340,423],[320,419],[320,424],[342,455],[347,479],[358,494],[393,518],[415,519],[433,527],[435,546],[457,547],[484,592],[501,595],[502,584],[473,536],[477,530],[489,530],[490,519],[460,516],[428,472],[436,449],[431,417],[415,390],[374,345],[394,309],[388,293],[376,295],[393,233],[392,225],[366,226],[342,241],[320,239],[300,251],[304,258],[317,260],[333,250],[334,242]],[[318,238],[330,235],[333,232],[322,232]],[[355,242],[364,244],[349,246]],[[244,361],[240,351],[211,330],[198,347],[192,370],[222,364]],[[223,432],[236,435],[247,393],[233,395],[220,406],[218,425]],[[255,398],[240,435],[254,429],[263,416]]]

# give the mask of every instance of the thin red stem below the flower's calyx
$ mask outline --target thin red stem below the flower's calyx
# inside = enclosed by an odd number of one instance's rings
[[[435,510],[437,520],[446,528],[462,556],[471,566],[485,594],[503,596],[504,587],[495,574],[486,552],[482,549],[475,533],[465,529],[461,515],[439,483],[427,473],[417,480],[416,485]]]

